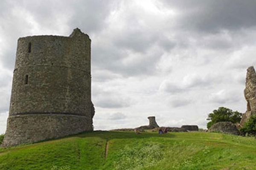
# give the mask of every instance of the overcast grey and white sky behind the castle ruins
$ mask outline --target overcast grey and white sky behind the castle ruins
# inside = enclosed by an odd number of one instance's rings
[[[244,113],[246,69],[256,65],[255,0],[1,0],[0,133],[6,130],[17,39],[92,40],[96,130],[206,127],[220,106]]]

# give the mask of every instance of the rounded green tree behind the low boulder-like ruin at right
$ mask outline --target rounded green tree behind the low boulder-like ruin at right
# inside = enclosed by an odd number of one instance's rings
[[[213,124],[217,122],[240,122],[242,113],[238,111],[232,111],[229,108],[219,107],[218,110],[213,110],[212,113],[208,114],[207,120],[210,122],[207,123],[207,128],[209,129]]]

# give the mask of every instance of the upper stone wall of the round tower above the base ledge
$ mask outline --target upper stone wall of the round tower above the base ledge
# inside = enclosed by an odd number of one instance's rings
[[[90,112],[90,85],[87,35],[78,31],[73,37],[20,38],[9,115],[42,112],[86,115]]]

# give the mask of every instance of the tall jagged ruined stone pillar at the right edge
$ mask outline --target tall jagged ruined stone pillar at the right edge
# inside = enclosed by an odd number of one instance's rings
[[[256,72],[253,66],[247,68],[244,97],[247,101],[247,110],[242,116],[241,127],[250,116],[256,115]]]

